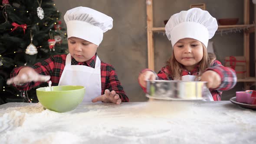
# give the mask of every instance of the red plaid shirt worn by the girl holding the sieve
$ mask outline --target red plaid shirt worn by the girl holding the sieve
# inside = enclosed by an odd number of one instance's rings
[[[169,71],[169,68],[170,68],[170,65],[164,66],[157,74],[158,79],[173,80],[173,78],[171,77],[171,72]],[[145,70],[147,70],[147,69],[145,69]],[[142,72],[144,72],[145,70],[143,70]],[[217,60],[215,60],[212,63],[211,67],[207,68],[205,71],[207,71],[207,70],[212,70],[214,72],[217,72],[221,77],[220,86],[218,88],[214,88],[214,89],[210,88],[210,92],[213,96],[213,100],[220,101],[222,91],[229,90],[236,85],[236,72],[229,67],[224,67]],[[198,71],[199,71],[198,66],[196,66],[195,69],[193,69],[191,72],[188,72],[187,70],[183,70],[182,76],[183,75],[198,75],[199,74]],[[142,87],[142,89],[144,90],[144,92],[146,92],[146,88]]]

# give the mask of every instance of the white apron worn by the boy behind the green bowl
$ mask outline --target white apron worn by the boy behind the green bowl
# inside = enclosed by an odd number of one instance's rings
[[[92,102],[102,93],[101,61],[96,58],[95,68],[85,65],[71,65],[70,53],[66,57],[66,65],[59,80],[59,85],[82,85],[85,87],[83,102]]]

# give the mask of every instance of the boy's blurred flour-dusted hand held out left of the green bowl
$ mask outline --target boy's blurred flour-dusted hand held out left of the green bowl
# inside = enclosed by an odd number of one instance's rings
[[[28,82],[47,82],[50,80],[49,75],[39,75],[33,68],[24,67],[15,77],[7,80],[7,85],[20,85]]]

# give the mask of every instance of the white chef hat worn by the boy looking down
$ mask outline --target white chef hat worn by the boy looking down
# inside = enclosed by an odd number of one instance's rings
[[[69,37],[85,39],[99,46],[103,33],[112,29],[113,19],[88,7],[75,7],[64,15]]]

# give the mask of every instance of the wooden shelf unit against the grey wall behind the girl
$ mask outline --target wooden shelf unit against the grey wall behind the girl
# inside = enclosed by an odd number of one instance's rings
[[[164,27],[153,27],[153,0],[146,0],[147,3],[147,34],[148,34],[148,69],[154,70],[154,36],[153,32],[165,32]],[[256,5],[254,6],[254,13],[256,13]],[[255,77],[249,77],[249,33],[255,33],[256,29],[256,14],[254,18],[255,23],[249,24],[249,0],[244,0],[244,24],[242,25],[226,25],[218,26],[217,31],[225,29],[245,29],[244,30],[244,56],[246,57],[246,79],[237,79],[237,82],[245,82],[245,89],[249,89],[252,83],[256,83]],[[255,57],[256,57],[256,33],[255,33]],[[256,60],[255,60],[256,72]]]

